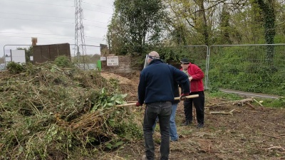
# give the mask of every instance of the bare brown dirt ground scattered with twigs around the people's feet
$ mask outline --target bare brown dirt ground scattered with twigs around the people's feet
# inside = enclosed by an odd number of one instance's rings
[[[125,91],[131,92],[134,98],[137,94],[139,73],[121,76],[133,81],[125,86]],[[205,124],[202,129],[197,129],[196,124],[181,126],[185,116],[180,102],[176,114],[180,139],[178,142],[171,142],[170,159],[285,159],[284,108],[233,105],[222,99],[209,98],[207,92],[205,98]],[[217,105],[219,103],[225,104]],[[231,110],[234,110],[233,114],[209,114]],[[138,112],[143,115],[143,109]],[[159,129],[156,129],[154,139],[155,158],[160,159]],[[143,142],[126,144],[109,154],[113,155],[110,159],[141,159],[144,154]]]

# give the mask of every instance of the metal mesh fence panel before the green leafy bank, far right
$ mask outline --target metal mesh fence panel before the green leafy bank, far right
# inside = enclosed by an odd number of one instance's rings
[[[208,86],[285,95],[285,44],[209,48]]]

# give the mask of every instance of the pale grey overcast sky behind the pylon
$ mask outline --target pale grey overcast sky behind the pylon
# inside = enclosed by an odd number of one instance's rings
[[[86,45],[105,44],[114,0],[82,1]],[[37,45],[75,43],[74,0],[0,0],[0,6],[0,57],[5,45],[31,45],[31,37],[38,38]],[[26,46],[5,46],[5,52],[16,47]],[[95,47],[86,50],[100,53]]]

